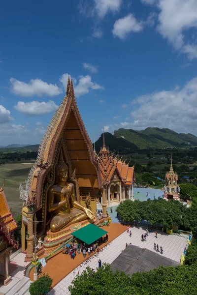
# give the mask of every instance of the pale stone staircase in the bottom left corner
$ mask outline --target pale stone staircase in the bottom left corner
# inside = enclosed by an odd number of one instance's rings
[[[32,281],[29,278],[23,277],[18,279],[12,277],[11,282],[5,287],[0,288],[0,295],[30,295],[29,288]]]

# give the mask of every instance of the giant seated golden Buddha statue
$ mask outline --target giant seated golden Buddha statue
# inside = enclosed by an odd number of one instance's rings
[[[56,183],[48,191],[48,212],[53,212],[50,229],[58,232],[70,224],[89,219],[94,221],[94,213],[79,204],[75,199],[75,188],[68,178],[68,166],[66,165],[62,151],[60,160],[55,167]]]

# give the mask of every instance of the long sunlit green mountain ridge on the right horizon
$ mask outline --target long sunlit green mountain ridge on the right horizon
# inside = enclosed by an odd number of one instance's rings
[[[177,133],[168,128],[148,127],[139,131],[121,128],[114,131],[114,136],[124,138],[140,149],[197,146],[197,136]]]

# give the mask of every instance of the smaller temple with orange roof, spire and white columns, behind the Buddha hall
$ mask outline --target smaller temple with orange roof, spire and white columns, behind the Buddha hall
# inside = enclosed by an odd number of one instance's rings
[[[134,166],[129,167],[129,164],[110,154],[109,148],[105,146],[104,132],[103,147],[100,148],[97,161],[99,163],[102,186],[105,188],[106,204],[110,206],[110,204],[115,202],[120,203],[127,199],[132,200],[132,182],[135,181]],[[103,204],[103,199],[100,198],[99,202]]]

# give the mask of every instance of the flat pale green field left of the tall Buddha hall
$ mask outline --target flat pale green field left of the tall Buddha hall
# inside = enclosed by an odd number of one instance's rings
[[[0,186],[5,178],[4,193],[14,216],[21,213],[22,203],[19,199],[19,184],[25,184],[33,163],[11,163],[0,166]]]

